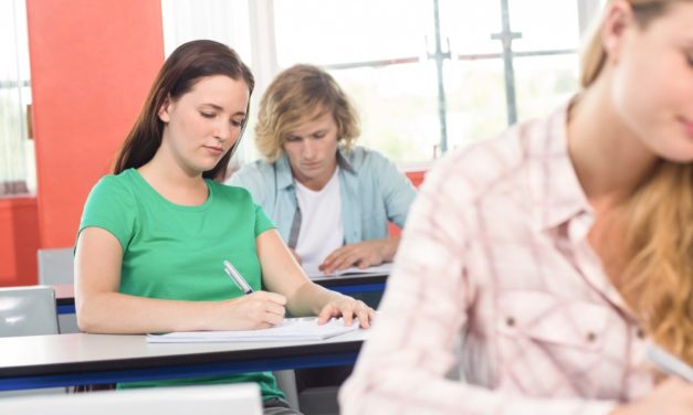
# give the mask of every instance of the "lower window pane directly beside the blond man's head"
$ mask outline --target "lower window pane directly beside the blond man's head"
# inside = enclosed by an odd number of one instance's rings
[[[358,143],[400,162],[433,158],[440,140],[435,67],[430,64],[332,71],[361,119]]]

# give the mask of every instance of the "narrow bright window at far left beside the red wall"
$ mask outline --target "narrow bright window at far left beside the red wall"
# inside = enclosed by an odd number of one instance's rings
[[[0,2],[0,196],[35,191],[24,0]]]

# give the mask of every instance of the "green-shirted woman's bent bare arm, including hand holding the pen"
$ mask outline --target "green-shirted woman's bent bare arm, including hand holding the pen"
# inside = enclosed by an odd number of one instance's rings
[[[75,252],[75,306],[80,330],[147,333],[188,330],[249,330],[284,317],[285,298],[256,291],[225,301],[177,301],[118,292],[123,248],[101,227],[80,233]]]

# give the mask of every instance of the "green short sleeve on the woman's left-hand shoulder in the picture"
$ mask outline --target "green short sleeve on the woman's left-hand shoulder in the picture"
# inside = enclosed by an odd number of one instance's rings
[[[123,178],[106,175],[90,192],[78,233],[87,227],[101,227],[111,232],[125,251],[133,236],[136,215],[135,198]]]

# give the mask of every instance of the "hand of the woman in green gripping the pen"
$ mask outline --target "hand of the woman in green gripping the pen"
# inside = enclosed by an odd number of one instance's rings
[[[221,301],[219,328],[213,330],[255,330],[274,327],[286,313],[286,297],[276,292],[254,291]]]

